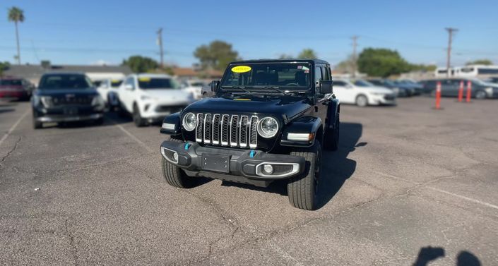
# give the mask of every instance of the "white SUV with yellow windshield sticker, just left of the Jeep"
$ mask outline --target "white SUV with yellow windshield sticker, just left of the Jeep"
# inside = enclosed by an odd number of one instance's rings
[[[132,114],[136,126],[162,121],[194,102],[170,75],[129,75],[118,91],[121,111]]]

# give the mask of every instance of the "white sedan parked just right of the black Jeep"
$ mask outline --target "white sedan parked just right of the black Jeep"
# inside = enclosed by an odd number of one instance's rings
[[[362,85],[360,86],[353,84],[350,80],[333,80],[333,93],[341,104],[356,104],[359,107],[396,104],[396,94],[392,90],[386,87],[377,87],[364,80],[361,81]]]

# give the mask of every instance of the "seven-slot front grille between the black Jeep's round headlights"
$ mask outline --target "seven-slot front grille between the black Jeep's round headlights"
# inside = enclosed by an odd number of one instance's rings
[[[197,114],[196,142],[230,147],[257,147],[258,116]]]

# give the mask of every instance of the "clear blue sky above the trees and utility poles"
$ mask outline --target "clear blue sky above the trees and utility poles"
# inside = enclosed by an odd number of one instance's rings
[[[396,49],[413,63],[446,63],[445,27],[458,28],[453,65],[498,64],[498,1],[33,1],[3,0],[0,61],[13,62],[16,41],[7,8],[18,6],[21,59],[39,64],[119,64],[132,54],[159,59],[155,31],[164,28],[165,61],[196,62],[200,44],[224,40],[243,59],[297,55],[312,48],[336,64],[365,47]]]

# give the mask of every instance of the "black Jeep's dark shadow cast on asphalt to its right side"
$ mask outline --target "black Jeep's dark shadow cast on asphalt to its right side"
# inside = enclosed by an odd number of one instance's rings
[[[318,208],[324,207],[340,190],[344,182],[356,170],[356,161],[349,159],[350,152],[367,143],[358,143],[362,137],[361,123],[340,123],[339,149],[335,152],[324,150],[321,180],[319,181]]]

